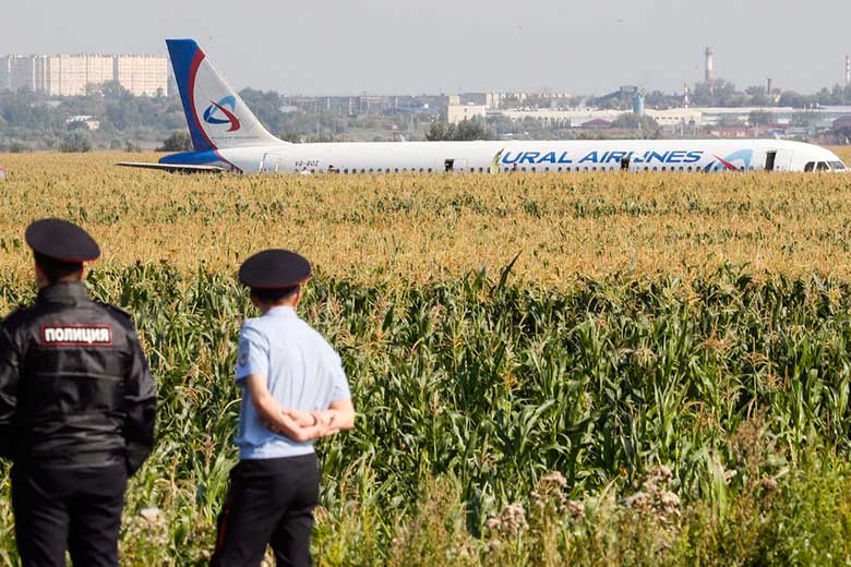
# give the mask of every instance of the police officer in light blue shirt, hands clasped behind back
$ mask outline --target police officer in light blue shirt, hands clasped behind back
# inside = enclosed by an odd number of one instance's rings
[[[355,410],[339,357],[296,314],[310,274],[307,260],[285,250],[255,254],[239,270],[261,315],[239,336],[240,462],[218,518],[215,566],[257,566],[268,544],[279,566],[311,565],[313,442],[351,429]]]

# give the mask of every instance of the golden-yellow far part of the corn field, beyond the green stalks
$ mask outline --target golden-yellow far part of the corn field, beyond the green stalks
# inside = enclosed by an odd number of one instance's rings
[[[727,262],[851,277],[847,176],[169,177],[111,165],[127,158],[0,156],[4,272],[28,277],[22,227],[56,215],[104,243],[103,264],[184,272],[236,272],[279,243],[359,284],[494,272],[517,254],[515,276],[550,288],[614,274],[692,277]]]

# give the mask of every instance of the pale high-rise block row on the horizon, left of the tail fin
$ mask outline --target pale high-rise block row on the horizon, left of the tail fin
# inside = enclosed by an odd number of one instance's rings
[[[147,55],[10,55],[0,57],[0,91],[81,96],[118,81],[135,96],[157,96],[167,94],[168,68],[167,58]]]

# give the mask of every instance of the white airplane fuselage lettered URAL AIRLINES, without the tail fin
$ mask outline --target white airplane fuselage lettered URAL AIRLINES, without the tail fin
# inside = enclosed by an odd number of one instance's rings
[[[196,157],[243,173],[844,170],[828,149],[776,140],[281,143]]]

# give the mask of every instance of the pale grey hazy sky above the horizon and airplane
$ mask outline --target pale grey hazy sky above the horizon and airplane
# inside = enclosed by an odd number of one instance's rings
[[[192,37],[237,88],[287,94],[814,92],[851,55],[849,0],[3,0],[0,55],[151,52]]]

